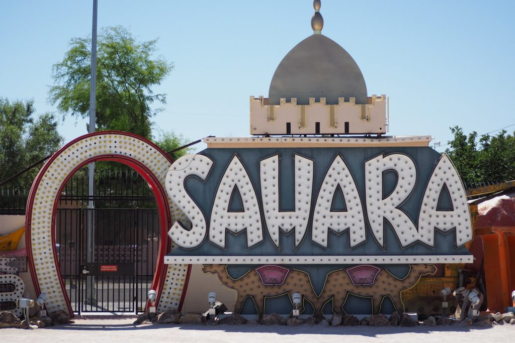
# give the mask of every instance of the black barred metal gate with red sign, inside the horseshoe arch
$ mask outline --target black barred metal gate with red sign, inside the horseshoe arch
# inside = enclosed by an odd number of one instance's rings
[[[156,209],[59,208],[56,249],[74,312],[143,312],[159,246]]]

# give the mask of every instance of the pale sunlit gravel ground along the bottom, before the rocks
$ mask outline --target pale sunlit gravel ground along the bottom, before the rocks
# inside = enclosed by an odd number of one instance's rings
[[[37,330],[0,329],[1,342],[453,342],[511,341],[515,326],[493,328],[459,325],[448,327],[317,327],[317,326],[198,326],[192,324],[143,324],[135,317],[75,318],[75,323]]]

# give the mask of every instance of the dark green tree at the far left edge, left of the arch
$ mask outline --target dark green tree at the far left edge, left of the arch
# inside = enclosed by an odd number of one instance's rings
[[[34,113],[33,100],[11,103],[0,98],[0,181],[56,152],[62,145],[54,115],[45,113],[35,120]],[[9,185],[29,187],[38,170],[26,172]]]

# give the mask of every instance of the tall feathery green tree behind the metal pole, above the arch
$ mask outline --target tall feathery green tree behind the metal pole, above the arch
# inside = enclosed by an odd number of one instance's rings
[[[124,27],[107,27],[97,39],[97,130],[119,130],[152,137],[151,118],[166,103],[165,94],[155,94],[173,69],[163,58],[152,58],[157,40],[136,42]],[[91,37],[74,38],[64,59],[53,66],[55,85],[49,101],[63,114],[88,117],[90,107]]]

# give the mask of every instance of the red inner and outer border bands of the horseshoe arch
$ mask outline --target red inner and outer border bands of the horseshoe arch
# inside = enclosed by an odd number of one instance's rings
[[[83,136],[80,136],[80,137],[68,142],[65,146],[63,146],[56,153],[54,153],[54,155],[52,155],[52,157],[50,157],[46,161],[45,165],[43,166],[43,168],[41,168],[38,175],[36,176],[36,179],[32,183],[32,187],[30,188],[29,196],[27,199],[27,207],[26,207],[27,210],[25,213],[25,243],[27,246],[27,256],[28,256],[27,262],[29,265],[30,275],[32,277],[32,282],[34,284],[34,288],[36,290],[37,295],[39,295],[41,293],[41,288],[39,285],[39,280],[38,280],[37,273],[36,273],[36,266],[35,266],[34,258],[32,255],[32,242],[31,242],[32,223],[31,223],[31,220],[32,220],[32,207],[33,207],[34,200],[36,197],[36,191],[41,183],[41,179],[43,178],[43,175],[45,174],[45,172],[48,170],[49,166],[54,162],[54,160],[63,151],[65,151],[66,149],[68,149],[69,147],[71,147],[72,145],[74,145],[75,143],[77,143],[78,141],[81,141],[83,139],[95,137],[95,136],[104,136],[104,135],[123,135],[123,136],[129,136],[129,137],[133,137],[138,140],[144,141],[149,146],[151,146],[153,149],[156,149],[157,152],[163,154],[166,157],[166,159],[168,159],[168,161],[170,162],[170,165],[174,162],[173,159],[171,159],[168,156],[168,154],[166,152],[164,152],[161,148],[159,148],[157,145],[155,145],[155,143],[153,143],[153,142],[149,141],[148,139],[141,137],[139,135],[135,135],[135,134],[128,133],[128,132],[121,132],[121,131],[100,131],[100,132],[94,132],[94,133],[90,133],[87,135],[83,135]],[[160,220],[160,241],[159,241],[159,248],[158,248],[158,260],[157,260],[157,264],[156,264],[156,272],[152,279],[152,289],[157,291],[157,293],[158,293],[157,299],[160,299],[161,294],[163,292],[163,285],[164,285],[164,281],[165,281],[165,277],[166,277],[164,256],[165,256],[166,252],[169,250],[170,245],[171,245],[170,240],[167,239],[167,230],[170,228],[170,225],[171,225],[171,213],[169,210],[168,198],[166,195],[166,191],[164,190],[163,186],[161,185],[161,183],[159,182],[157,177],[150,171],[150,169],[148,167],[146,167],[145,165],[143,165],[140,161],[138,161],[135,158],[130,157],[130,156],[117,155],[117,154],[104,154],[104,155],[94,156],[94,157],[84,160],[83,163],[81,163],[79,166],[77,166],[74,170],[72,170],[65,177],[63,183],[61,184],[61,186],[58,190],[58,194],[61,194],[64,186],[66,185],[66,183],[68,182],[70,177],[72,177],[72,175],[77,170],[79,170],[80,168],[82,168],[83,166],[85,166],[91,162],[98,161],[98,160],[116,161],[116,162],[123,163],[123,164],[131,167],[147,181],[147,183],[150,185],[150,187],[152,189],[152,192],[156,198],[156,203],[158,205],[159,218],[161,219]],[[70,303],[70,298],[68,297],[68,294],[66,293],[64,282],[63,282],[63,279],[61,276],[61,268],[59,266],[59,261],[57,260],[57,251],[56,251],[56,242],[55,242],[55,240],[56,240],[55,234],[56,234],[57,206],[58,206],[58,200],[56,199],[54,202],[54,208],[52,210],[52,221],[51,221],[52,250],[53,250],[53,255],[54,255],[55,267],[58,272],[61,291],[64,295],[64,300],[68,307],[68,312],[70,313],[71,316],[73,316],[74,314],[73,314],[73,309],[72,309],[72,306]],[[190,267],[191,266],[188,265],[188,270],[190,269]],[[189,275],[187,275],[187,276],[189,276]],[[186,287],[187,287],[187,279],[188,279],[188,277],[186,277],[186,280],[185,280],[186,282],[184,283],[184,288],[183,288],[183,292],[182,292],[183,296],[181,297],[179,309],[182,307],[182,302],[184,300],[184,294],[186,292]]]

